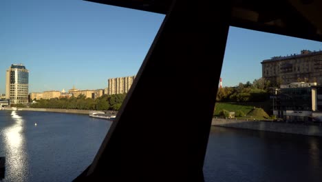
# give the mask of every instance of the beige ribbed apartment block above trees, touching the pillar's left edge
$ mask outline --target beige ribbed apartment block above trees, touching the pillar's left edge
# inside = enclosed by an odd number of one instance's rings
[[[108,94],[123,94],[129,92],[135,77],[136,76],[108,79]]]

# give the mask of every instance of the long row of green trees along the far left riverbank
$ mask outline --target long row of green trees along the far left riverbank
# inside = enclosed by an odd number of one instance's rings
[[[55,108],[76,110],[119,110],[126,94],[103,95],[97,99],[86,98],[84,94],[78,97],[39,99],[30,103],[30,108]],[[17,105],[18,106],[18,105]]]

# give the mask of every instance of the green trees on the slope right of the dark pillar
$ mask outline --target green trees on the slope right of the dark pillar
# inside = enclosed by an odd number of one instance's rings
[[[219,88],[216,101],[219,102],[258,102],[269,99],[270,88],[275,87],[270,81],[260,78],[253,83],[239,83],[235,87]]]

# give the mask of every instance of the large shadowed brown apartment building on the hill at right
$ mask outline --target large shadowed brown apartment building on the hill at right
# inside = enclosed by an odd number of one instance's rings
[[[322,51],[272,57],[261,62],[262,77],[272,83],[316,82],[322,85]]]

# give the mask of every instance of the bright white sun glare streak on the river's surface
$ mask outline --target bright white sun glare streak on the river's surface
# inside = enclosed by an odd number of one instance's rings
[[[11,118],[12,124],[3,132],[6,144],[6,176],[4,180],[25,181],[25,174],[28,171],[27,155],[24,152],[23,127],[25,122],[16,111],[12,111]]]

